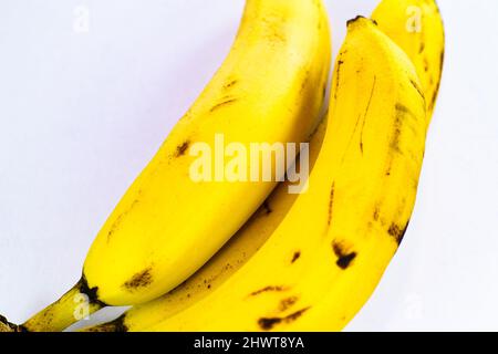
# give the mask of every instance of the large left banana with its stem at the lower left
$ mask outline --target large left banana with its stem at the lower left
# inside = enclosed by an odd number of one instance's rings
[[[247,0],[228,58],[103,226],[81,280],[18,329],[60,331],[82,309],[145,303],[205,264],[277,183],[196,183],[193,146],[212,147],[218,133],[245,147],[304,142],[324,101],[317,87],[326,86],[330,52],[321,0]]]

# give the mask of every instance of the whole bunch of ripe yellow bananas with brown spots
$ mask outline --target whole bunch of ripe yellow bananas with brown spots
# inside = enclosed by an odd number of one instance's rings
[[[321,0],[247,0],[228,58],[103,226],[80,281],[22,325],[0,316],[0,331],[62,331],[82,309],[121,305],[133,308],[84,331],[342,330],[407,230],[444,28],[434,0],[383,0],[349,21],[323,117],[330,42]],[[305,190],[193,180],[194,147],[217,134],[309,142]]]

